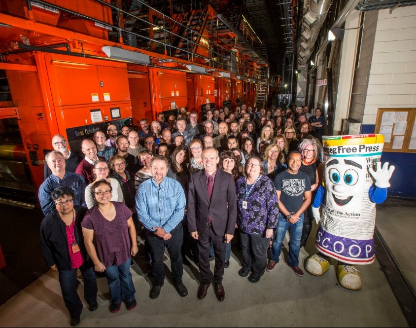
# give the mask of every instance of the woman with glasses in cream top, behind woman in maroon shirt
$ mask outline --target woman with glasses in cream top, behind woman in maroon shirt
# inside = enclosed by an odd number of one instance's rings
[[[123,197],[123,191],[121,190],[121,186],[118,183],[118,181],[114,178],[108,178],[110,173],[110,169],[108,167],[108,164],[105,160],[99,159],[97,162],[94,163],[93,168],[93,177],[94,181],[91,182],[87,187],[85,188],[85,204],[90,209],[94,205],[96,205],[95,198],[93,194],[91,193],[91,188],[93,184],[97,181],[104,180],[111,184],[112,189],[114,190],[111,193],[111,201],[113,202],[124,202]]]

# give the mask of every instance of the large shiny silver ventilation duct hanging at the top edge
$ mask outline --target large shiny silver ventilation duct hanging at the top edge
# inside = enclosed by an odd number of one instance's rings
[[[306,47],[305,44],[302,44],[302,47],[305,49],[305,54],[307,55],[304,58],[298,58],[299,65],[305,65],[308,62],[309,55],[312,52],[319,31],[325,21],[331,2],[332,0],[309,1],[309,6],[302,22],[302,37],[305,39],[304,41],[307,41]]]

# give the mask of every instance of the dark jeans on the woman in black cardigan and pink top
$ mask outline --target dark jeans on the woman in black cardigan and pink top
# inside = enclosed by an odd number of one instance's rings
[[[89,305],[94,304],[97,301],[97,277],[94,269],[89,263],[84,262],[79,270],[84,278],[84,298]],[[59,270],[59,284],[71,318],[78,318],[82,312],[82,302],[76,292],[77,271],[78,269]]]

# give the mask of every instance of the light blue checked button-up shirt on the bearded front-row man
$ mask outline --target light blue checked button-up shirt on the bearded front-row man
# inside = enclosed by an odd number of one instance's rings
[[[183,219],[185,193],[179,182],[166,177],[160,184],[153,179],[141,183],[136,195],[139,221],[147,230],[162,227],[171,232]]]

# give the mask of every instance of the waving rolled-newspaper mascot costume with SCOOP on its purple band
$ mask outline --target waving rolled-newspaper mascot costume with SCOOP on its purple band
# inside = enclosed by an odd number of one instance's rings
[[[361,277],[353,265],[374,262],[376,204],[387,198],[394,166],[381,167],[383,135],[324,136],[322,143],[324,181],[312,205],[320,222],[315,240],[319,253],[307,259],[305,269],[321,276],[333,257],[341,286],[359,290]]]

